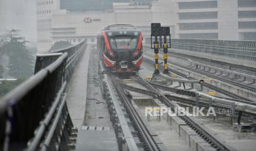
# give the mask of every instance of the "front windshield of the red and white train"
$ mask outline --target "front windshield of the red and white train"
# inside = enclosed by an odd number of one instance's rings
[[[138,36],[111,36],[110,45],[112,49],[130,49],[133,50],[137,46]]]

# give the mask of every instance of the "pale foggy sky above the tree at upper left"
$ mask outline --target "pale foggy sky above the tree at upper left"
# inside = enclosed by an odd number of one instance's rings
[[[36,40],[35,0],[0,0],[0,33],[13,28],[27,40]]]

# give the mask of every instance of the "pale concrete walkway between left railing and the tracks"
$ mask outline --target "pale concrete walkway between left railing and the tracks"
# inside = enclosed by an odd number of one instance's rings
[[[75,150],[118,150],[106,100],[103,98],[99,86],[100,75],[97,50],[94,49],[93,45],[89,45],[86,51],[80,62],[81,64],[78,66],[78,69],[86,73],[79,71],[74,74],[77,78],[82,78],[82,80],[73,80],[73,86],[78,86],[78,89],[75,88],[74,91],[77,92],[72,93],[79,93],[80,96],[83,96],[83,99],[72,95],[73,97],[70,100],[72,102],[74,99],[78,99],[80,101],[78,103],[83,103],[83,106],[72,106],[73,111],[76,113],[74,117],[79,118],[74,119],[74,122],[76,122],[74,125],[79,124]]]

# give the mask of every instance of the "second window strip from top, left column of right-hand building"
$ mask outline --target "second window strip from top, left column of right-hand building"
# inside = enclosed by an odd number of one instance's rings
[[[179,13],[179,20],[186,20],[186,19],[217,19],[217,18],[218,18],[217,11]]]

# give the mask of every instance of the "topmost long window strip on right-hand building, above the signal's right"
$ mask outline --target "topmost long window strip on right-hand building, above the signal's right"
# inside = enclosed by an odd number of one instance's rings
[[[217,8],[217,1],[179,2],[179,9]]]

